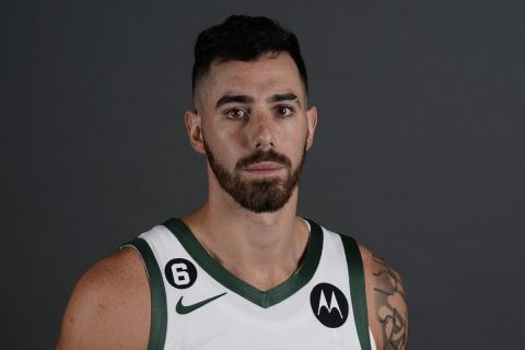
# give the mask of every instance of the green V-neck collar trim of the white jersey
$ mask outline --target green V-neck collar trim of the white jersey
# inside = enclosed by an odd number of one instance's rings
[[[164,222],[164,225],[173,232],[183,247],[208,275],[229,290],[260,307],[267,308],[299,291],[314,277],[323,250],[323,230],[315,222],[311,220],[308,222],[311,226],[310,242],[302,266],[287,281],[266,292],[244,282],[222,267],[206,252],[182,220],[173,218]]]

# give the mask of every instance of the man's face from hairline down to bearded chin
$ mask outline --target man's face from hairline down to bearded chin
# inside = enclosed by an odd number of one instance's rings
[[[316,118],[292,58],[212,63],[197,100],[202,148],[220,187],[250,211],[281,209],[299,183]]]

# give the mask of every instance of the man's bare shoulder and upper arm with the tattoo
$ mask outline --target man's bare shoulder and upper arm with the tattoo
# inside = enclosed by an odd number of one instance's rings
[[[359,246],[364,267],[369,325],[377,349],[406,349],[408,307],[400,275],[384,259]]]

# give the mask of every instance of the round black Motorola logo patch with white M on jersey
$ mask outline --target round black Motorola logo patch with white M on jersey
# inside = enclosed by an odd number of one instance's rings
[[[310,304],[315,317],[326,327],[340,327],[348,318],[347,298],[332,284],[315,285],[310,293]]]

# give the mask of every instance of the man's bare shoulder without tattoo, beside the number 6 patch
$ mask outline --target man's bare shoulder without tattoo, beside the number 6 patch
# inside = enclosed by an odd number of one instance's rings
[[[57,349],[145,349],[150,303],[142,259],[125,247],[94,264],[77,282]]]

